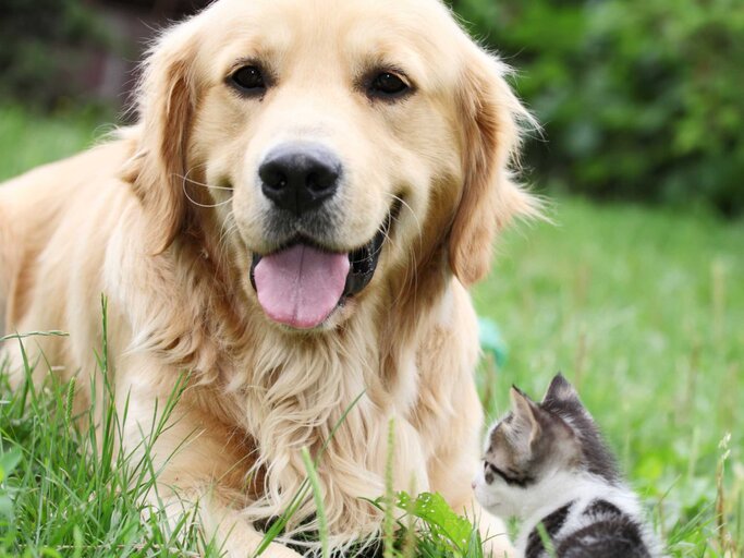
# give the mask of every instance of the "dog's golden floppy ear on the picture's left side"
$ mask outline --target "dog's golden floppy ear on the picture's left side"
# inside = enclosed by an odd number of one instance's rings
[[[196,105],[196,29],[193,19],[157,41],[137,90],[137,145],[123,179],[142,201],[148,220],[148,247],[156,254],[171,244],[186,217],[183,180]]]

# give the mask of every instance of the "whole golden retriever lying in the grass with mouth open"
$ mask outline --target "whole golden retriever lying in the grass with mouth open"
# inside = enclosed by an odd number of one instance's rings
[[[136,125],[0,187],[7,330],[70,333],[27,350],[78,375],[83,409],[105,293],[132,447],[190,371],[156,442],[160,497],[198,501],[229,556],[256,549],[324,444],[332,543],[376,533],[364,497],[383,493],[391,420],[395,487],[473,511],[466,287],[536,211],[509,170],[528,116],[503,74],[437,0],[215,2],[151,49]],[[289,535],[313,527],[308,501]]]

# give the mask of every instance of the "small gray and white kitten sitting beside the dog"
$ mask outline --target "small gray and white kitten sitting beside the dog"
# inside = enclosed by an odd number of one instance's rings
[[[660,556],[635,494],[571,384],[559,374],[541,403],[513,387],[511,401],[511,413],[488,434],[473,488],[489,512],[523,520],[520,555]],[[554,554],[545,548],[539,524]]]

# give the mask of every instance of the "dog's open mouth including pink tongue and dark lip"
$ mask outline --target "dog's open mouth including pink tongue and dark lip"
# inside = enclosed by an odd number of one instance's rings
[[[330,252],[296,238],[271,254],[255,254],[251,282],[266,315],[294,329],[314,329],[326,322],[373,280],[400,207],[400,202],[393,204],[377,234],[352,252]]]

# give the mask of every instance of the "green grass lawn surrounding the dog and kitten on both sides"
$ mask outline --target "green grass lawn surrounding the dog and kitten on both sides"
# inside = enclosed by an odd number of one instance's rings
[[[0,106],[0,180],[90,144],[109,130],[96,122]],[[537,397],[562,371],[669,553],[741,556],[744,222],[574,198],[553,201],[551,214],[554,225],[501,239],[474,291],[509,351],[478,378],[490,416],[511,384]],[[0,388],[0,556],[188,556],[198,534],[174,541],[157,513],[139,521],[142,466],[81,451],[86,433],[69,434],[68,401],[64,386]]]

